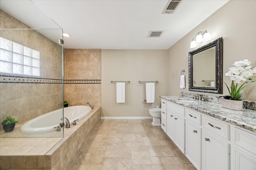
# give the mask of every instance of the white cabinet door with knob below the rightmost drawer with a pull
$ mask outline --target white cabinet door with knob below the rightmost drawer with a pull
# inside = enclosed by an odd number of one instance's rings
[[[210,131],[203,131],[202,135],[202,169],[229,170],[230,144]]]

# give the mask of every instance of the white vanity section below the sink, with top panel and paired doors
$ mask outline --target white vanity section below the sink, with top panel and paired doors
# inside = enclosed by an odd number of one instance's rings
[[[182,153],[185,154],[185,108],[167,102],[166,134],[172,139]]]

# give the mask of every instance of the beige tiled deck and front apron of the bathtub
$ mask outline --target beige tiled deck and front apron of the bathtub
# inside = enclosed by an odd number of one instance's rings
[[[64,129],[63,139],[1,138],[0,169],[44,169],[44,162],[46,169],[68,169],[100,121],[100,110],[94,106],[75,126]]]

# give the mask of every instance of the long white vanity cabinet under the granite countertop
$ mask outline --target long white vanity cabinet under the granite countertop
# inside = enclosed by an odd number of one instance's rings
[[[165,132],[196,169],[256,170],[255,132],[163,102]]]

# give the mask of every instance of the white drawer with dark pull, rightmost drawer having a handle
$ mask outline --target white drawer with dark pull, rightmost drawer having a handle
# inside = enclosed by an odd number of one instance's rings
[[[216,133],[216,135],[224,137],[224,139],[230,140],[230,125],[226,124],[225,122],[203,115],[202,124],[203,127]]]

